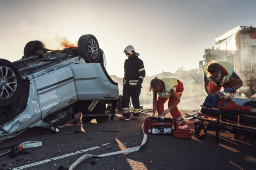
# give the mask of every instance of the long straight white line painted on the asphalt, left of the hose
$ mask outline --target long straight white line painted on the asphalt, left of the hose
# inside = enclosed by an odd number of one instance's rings
[[[15,167],[12,170],[22,170],[22,169],[27,168],[27,167],[33,167],[33,166],[36,166],[36,165],[39,165],[39,164],[44,164],[44,163],[49,162],[49,161],[54,161],[54,160],[57,160],[57,159],[62,159],[62,158],[68,157],[68,156],[76,155],[76,154],[79,154],[79,153],[86,152],[88,150],[94,150],[94,149],[98,149],[98,148],[100,148],[100,147],[99,146],[95,146],[95,147],[91,147],[91,148],[88,148],[88,149],[79,150],[79,151],[76,151],[76,152],[73,152],[73,153],[68,153],[68,154],[65,154],[65,155],[62,155],[62,156],[57,156],[55,158],[45,159],[43,161],[34,162],[32,164],[23,165],[21,167]]]

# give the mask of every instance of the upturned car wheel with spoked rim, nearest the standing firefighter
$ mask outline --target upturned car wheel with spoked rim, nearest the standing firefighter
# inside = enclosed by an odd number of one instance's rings
[[[96,37],[91,34],[83,35],[79,38],[77,45],[78,54],[86,62],[97,62],[99,60],[100,49]]]

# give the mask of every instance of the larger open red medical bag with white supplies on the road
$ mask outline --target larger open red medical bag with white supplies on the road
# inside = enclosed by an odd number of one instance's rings
[[[143,131],[148,134],[171,134],[179,127],[176,119],[147,117],[143,123]]]

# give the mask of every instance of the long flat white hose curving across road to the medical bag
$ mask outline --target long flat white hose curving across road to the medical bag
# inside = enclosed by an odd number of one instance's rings
[[[142,126],[143,128],[143,126]],[[81,156],[79,159],[77,159],[68,170],[73,170],[78,164],[80,164],[82,161],[84,161],[85,159],[89,159],[89,158],[93,158],[93,157],[105,157],[105,156],[112,156],[112,155],[118,155],[118,154],[122,154],[122,153],[132,153],[132,152],[136,152],[139,151],[140,148],[147,142],[147,138],[148,138],[148,134],[143,132],[143,140],[141,142],[140,146],[136,146],[136,147],[132,147],[126,150],[120,150],[120,151],[116,151],[116,152],[111,152],[111,153],[105,153],[105,154],[101,154],[101,155],[91,155],[91,154],[84,154],[83,156]]]

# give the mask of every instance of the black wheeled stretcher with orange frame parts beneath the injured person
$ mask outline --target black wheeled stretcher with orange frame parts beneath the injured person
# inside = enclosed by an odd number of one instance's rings
[[[206,134],[215,135],[215,144],[219,136],[244,140],[256,146],[256,112],[224,111],[215,107],[201,105],[201,112],[194,116],[195,133],[203,140]]]

